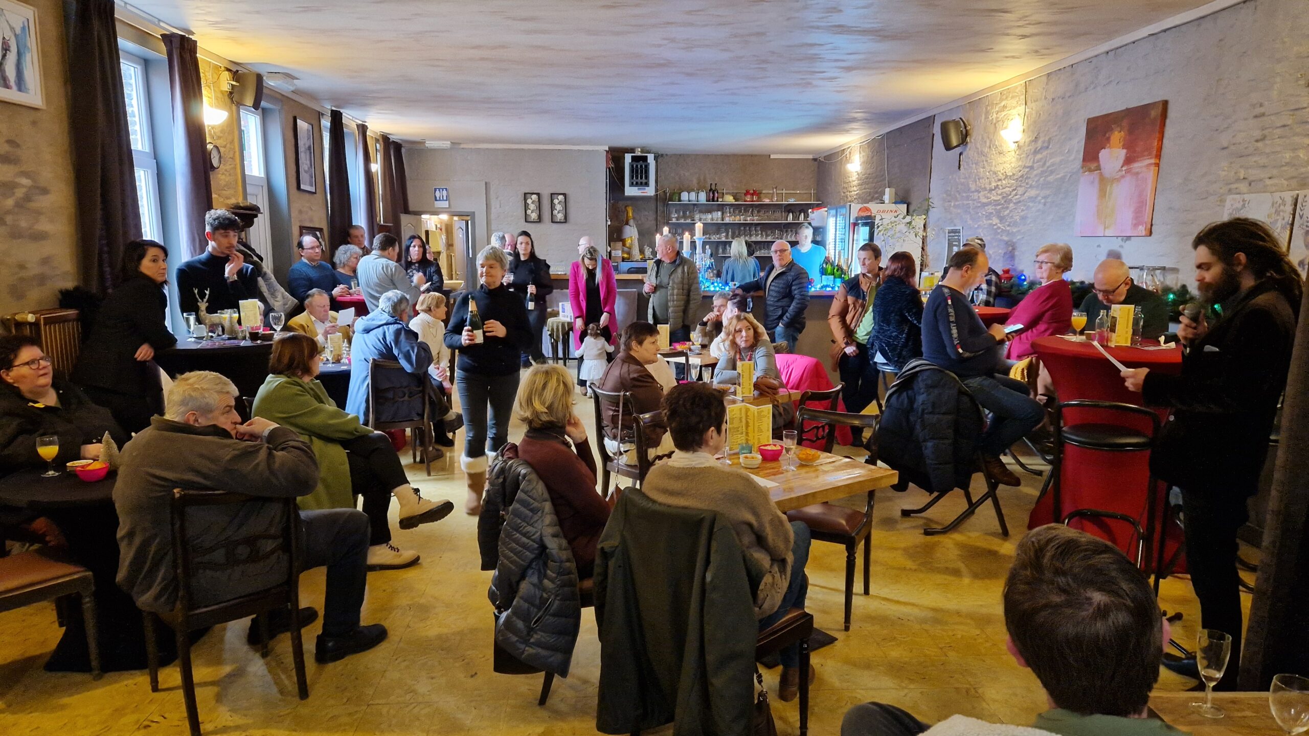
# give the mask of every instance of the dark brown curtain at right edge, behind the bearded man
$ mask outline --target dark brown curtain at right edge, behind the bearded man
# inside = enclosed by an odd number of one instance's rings
[[[1267,690],[1279,672],[1309,673],[1309,284],[1282,405],[1259,575],[1240,688]]]

